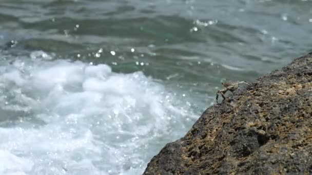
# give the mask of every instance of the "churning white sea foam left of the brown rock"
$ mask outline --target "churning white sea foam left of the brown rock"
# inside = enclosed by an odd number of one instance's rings
[[[191,107],[142,72],[37,54],[0,65],[0,174],[140,174],[191,125]]]

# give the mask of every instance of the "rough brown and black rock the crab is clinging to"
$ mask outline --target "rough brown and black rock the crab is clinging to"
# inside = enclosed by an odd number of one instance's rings
[[[202,114],[144,174],[312,174],[312,53]]]

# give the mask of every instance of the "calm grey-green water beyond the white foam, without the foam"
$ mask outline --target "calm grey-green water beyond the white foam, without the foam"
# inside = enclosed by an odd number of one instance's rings
[[[57,58],[105,63],[114,72],[143,71],[164,83],[212,95],[224,78],[252,81],[310,51],[311,5],[2,1],[1,41],[17,40],[14,53],[43,50]]]

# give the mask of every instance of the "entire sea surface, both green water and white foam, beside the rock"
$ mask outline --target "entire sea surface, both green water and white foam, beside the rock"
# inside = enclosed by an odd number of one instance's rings
[[[140,174],[214,103],[311,51],[310,0],[2,0],[0,173]]]

